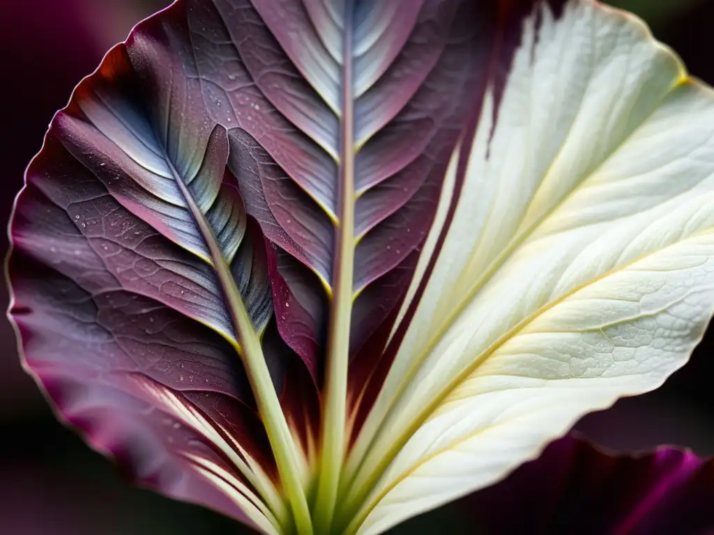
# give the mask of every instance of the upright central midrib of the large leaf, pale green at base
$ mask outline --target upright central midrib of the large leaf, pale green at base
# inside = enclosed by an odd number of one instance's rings
[[[355,257],[354,110],[352,73],[352,1],[345,2],[342,138],[338,228],[333,269],[333,300],[327,333],[327,362],[323,399],[321,466],[314,507],[318,534],[330,534],[345,457],[347,374],[352,317]]]

